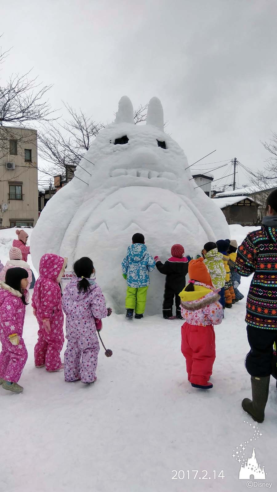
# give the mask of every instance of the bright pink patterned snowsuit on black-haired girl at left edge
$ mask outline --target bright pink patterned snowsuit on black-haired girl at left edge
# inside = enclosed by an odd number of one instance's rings
[[[28,358],[28,352],[22,338],[25,318],[25,304],[21,293],[0,282],[0,378],[17,383]],[[19,344],[13,345],[9,335],[17,334]]]

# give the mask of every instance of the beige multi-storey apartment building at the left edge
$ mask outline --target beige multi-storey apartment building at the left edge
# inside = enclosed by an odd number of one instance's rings
[[[0,228],[38,219],[37,132],[0,126]]]

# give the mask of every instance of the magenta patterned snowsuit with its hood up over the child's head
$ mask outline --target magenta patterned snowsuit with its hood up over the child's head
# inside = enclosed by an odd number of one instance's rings
[[[35,366],[45,364],[46,370],[55,371],[62,365],[60,352],[64,345],[64,313],[62,294],[57,281],[64,266],[62,256],[44,254],[39,262],[39,277],[35,282],[32,306],[39,325],[35,345]],[[43,319],[49,319],[51,331],[46,333]]]

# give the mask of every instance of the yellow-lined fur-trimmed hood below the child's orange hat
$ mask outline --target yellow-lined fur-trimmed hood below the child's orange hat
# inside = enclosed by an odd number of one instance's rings
[[[188,311],[196,311],[220,299],[218,289],[201,282],[195,282],[193,291],[182,290],[179,294],[181,306]]]

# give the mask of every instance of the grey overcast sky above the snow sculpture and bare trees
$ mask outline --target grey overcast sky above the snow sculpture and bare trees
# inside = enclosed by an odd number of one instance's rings
[[[53,108],[64,100],[105,123],[122,95],[134,107],[156,95],[190,164],[217,149],[203,162],[264,165],[260,141],[277,131],[276,0],[2,0],[0,8],[1,45],[13,47],[2,79],[34,67],[54,84]]]

